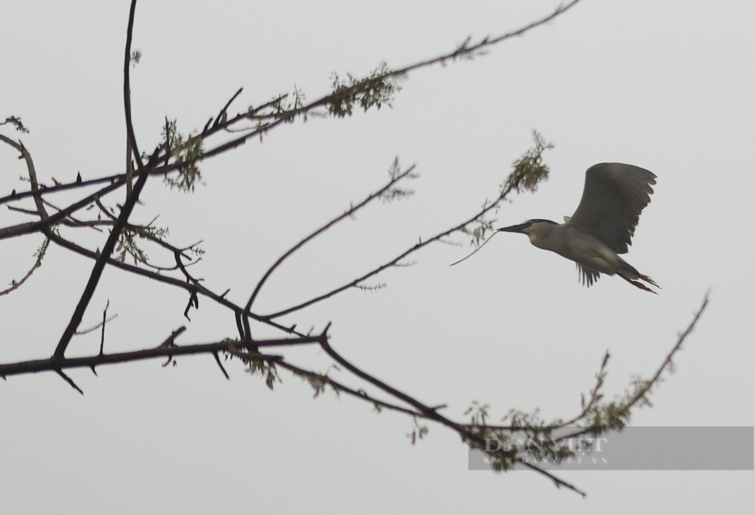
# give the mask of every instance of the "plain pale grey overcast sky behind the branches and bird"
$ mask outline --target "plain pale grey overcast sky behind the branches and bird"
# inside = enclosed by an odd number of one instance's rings
[[[364,75],[381,60],[436,57],[555,6],[140,2],[137,138],[143,149],[156,144],[165,115],[184,132],[201,129],[240,86],[231,112],[294,84],[315,99],[333,71]],[[121,171],[128,2],[11,2],[3,11],[0,115],[23,117],[42,179]],[[753,425],[753,246],[742,242],[752,235],[755,188],[753,18],[749,2],[584,0],[485,57],[416,72],[393,109],[298,121],[250,141],[205,164],[194,195],[148,182],[134,219],[159,214],[175,244],[204,239],[196,274],[243,302],[282,252],[377,189],[396,155],[416,163],[414,198],[372,206],[276,272],[256,303],[276,311],[470,216],[495,196],[535,128],[556,145],[546,155],[550,180],[536,195],[511,197],[498,223],[570,215],[592,164],[652,170],[655,195],[626,258],[661,295],[614,277],[588,290],[572,263],[501,235],[454,268],[467,247],[430,247],[418,265],[380,277],[387,289],[348,291],[286,321],[319,329],[332,321],[332,345],[347,359],[428,404],[448,404],[451,418],[472,400],[490,404],[494,420],[537,406],[546,418],[570,418],[606,349],[606,394],[621,394],[633,376],[655,372],[710,287],[676,373],[633,424]],[[0,192],[25,189],[15,152],[0,147],[0,160]],[[22,219],[0,213],[3,226]],[[82,241],[95,248],[105,238]],[[22,276],[41,242],[4,241],[0,282]],[[51,354],[90,267],[51,247],[28,284],[0,297],[0,361]],[[180,291],[106,271],[83,326],[97,323],[108,299],[119,315],[108,351],[153,347],[186,323]],[[236,336],[232,317],[203,299],[188,329],[178,343]],[[81,336],[68,355],[98,345],[98,334]],[[314,349],[285,356],[323,372],[330,363]],[[229,382],[211,357],[98,372],[71,372],[84,397],[54,374],[0,382],[4,513],[745,513],[755,500],[752,472],[561,474],[586,499],[529,472],[470,472],[465,447],[439,426],[411,446],[408,418],[331,393],[313,400],[309,385],[285,373],[274,392],[241,366],[230,366]],[[363,387],[346,372],[331,375]]]

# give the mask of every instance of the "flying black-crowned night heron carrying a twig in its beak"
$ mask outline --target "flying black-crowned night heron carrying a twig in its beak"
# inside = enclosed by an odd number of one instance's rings
[[[532,219],[498,229],[529,236],[535,247],[550,250],[577,263],[582,284],[590,287],[600,274],[618,275],[634,286],[657,293],[640,283],[658,287],[618,255],[632,244],[639,213],[650,203],[655,174],[631,164],[602,163],[587,170],[577,210],[562,224]]]

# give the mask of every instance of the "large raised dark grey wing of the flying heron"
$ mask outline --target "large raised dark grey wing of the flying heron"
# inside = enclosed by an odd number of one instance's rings
[[[650,203],[651,184],[655,173],[644,168],[596,164],[587,169],[582,200],[565,225],[599,239],[617,254],[627,253],[639,213]]]

